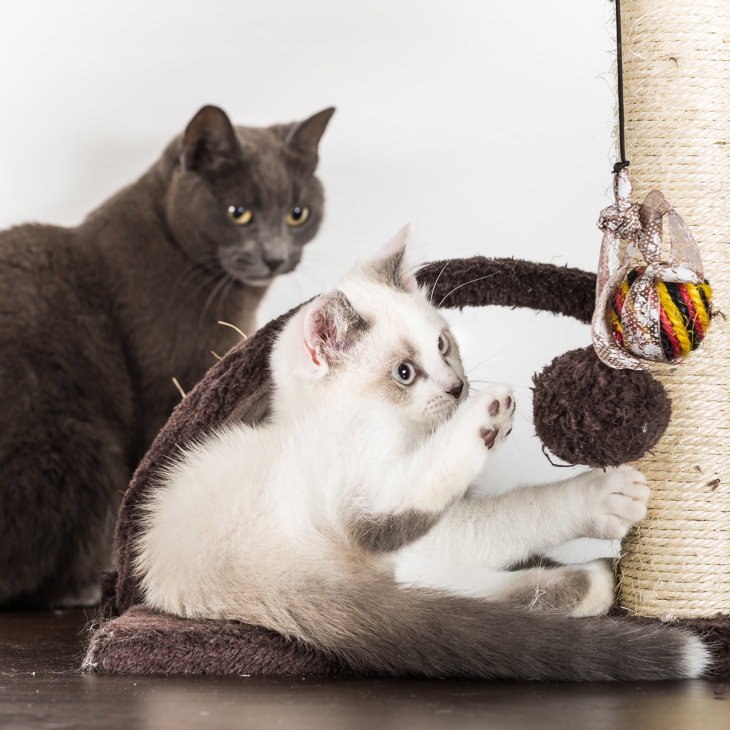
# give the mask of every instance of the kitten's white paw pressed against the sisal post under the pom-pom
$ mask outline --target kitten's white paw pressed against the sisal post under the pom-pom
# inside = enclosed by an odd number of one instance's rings
[[[585,537],[621,539],[634,523],[646,516],[650,490],[646,477],[628,464],[609,466],[592,473],[586,496],[590,515]]]

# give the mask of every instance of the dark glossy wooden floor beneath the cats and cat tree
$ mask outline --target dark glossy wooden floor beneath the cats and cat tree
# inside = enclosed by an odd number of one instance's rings
[[[0,728],[730,729],[730,684],[83,675],[82,611],[0,613]]]

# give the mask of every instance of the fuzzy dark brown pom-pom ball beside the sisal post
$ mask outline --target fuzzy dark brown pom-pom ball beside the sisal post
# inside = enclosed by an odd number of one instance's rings
[[[646,370],[615,370],[593,347],[571,350],[533,377],[537,437],[569,464],[636,461],[664,434],[672,404]]]

